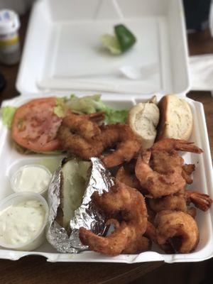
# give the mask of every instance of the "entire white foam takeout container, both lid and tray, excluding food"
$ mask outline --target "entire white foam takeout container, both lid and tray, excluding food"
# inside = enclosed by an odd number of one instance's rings
[[[111,33],[115,23],[124,23],[138,38],[129,53],[115,58],[99,50],[99,35]],[[127,80],[114,70],[124,65],[155,65],[158,72],[141,80]],[[109,67],[106,75],[77,78],[87,70]],[[102,93],[102,99],[115,109],[130,108],[150,99],[158,92],[184,96],[189,89],[187,44],[182,3],[179,0],[40,0],[33,7],[26,44],[16,87],[20,97],[5,101],[6,105],[21,106],[36,97],[78,96]],[[89,71],[88,71],[89,72]],[[212,192],[212,163],[209,151],[204,109],[200,102],[185,98],[194,118],[191,141],[204,153],[184,153],[186,163],[195,163],[194,182],[189,188]],[[200,134],[202,132],[202,134]],[[16,151],[8,129],[0,121],[0,199],[11,193],[9,177],[14,168],[38,163],[41,155],[22,155]],[[44,159],[44,158],[43,158]],[[50,159],[48,157],[48,159]],[[158,248],[138,255],[103,256],[93,251],[78,254],[58,253],[47,242],[35,251],[0,249],[0,258],[18,259],[22,256],[45,256],[48,261],[137,263],[165,261],[168,263],[203,261],[213,256],[212,215],[197,210],[200,243],[187,254],[165,254]]]

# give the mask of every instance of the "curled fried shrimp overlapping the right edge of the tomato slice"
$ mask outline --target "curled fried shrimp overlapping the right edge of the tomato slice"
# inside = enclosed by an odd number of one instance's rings
[[[58,139],[63,148],[70,153],[88,160],[102,153],[99,126],[84,116],[70,114],[65,116],[58,130]]]

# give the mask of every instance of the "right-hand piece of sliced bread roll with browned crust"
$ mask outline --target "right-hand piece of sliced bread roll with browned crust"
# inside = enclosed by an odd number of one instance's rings
[[[160,124],[157,140],[175,138],[188,140],[192,133],[192,111],[185,99],[174,94],[160,99]]]

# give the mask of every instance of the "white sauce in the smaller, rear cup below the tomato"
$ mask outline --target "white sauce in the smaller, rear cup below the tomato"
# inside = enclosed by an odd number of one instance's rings
[[[13,175],[11,185],[15,192],[40,193],[47,190],[51,180],[51,174],[43,166],[26,165]]]

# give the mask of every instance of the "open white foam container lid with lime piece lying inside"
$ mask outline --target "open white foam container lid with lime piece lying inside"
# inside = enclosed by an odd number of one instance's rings
[[[137,43],[122,55],[100,36],[123,23]],[[51,90],[154,92],[189,89],[187,42],[180,0],[40,0],[33,6],[16,87]]]

